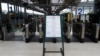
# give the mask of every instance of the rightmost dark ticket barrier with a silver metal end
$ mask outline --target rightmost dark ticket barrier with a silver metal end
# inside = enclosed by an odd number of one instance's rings
[[[97,43],[99,39],[99,24],[86,24],[85,27],[85,35]]]

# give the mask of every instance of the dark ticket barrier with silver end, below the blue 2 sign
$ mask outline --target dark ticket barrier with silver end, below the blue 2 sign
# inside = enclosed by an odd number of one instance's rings
[[[85,37],[85,24],[84,23],[73,23],[73,36],[77,37],[80,42],[84,42]]]

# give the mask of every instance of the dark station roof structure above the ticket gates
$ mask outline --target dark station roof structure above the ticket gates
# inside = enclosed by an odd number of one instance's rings
[[[77,6],[81,0],[55,0],[56,3],[52,3],[54,0],[1,0],[2,2],[11,3],[15,5],[25,6],[32,10],[36,10],[38,12],[46,13],[52,11],[52,7],[55,6],[57,9],[55,12],[59,12],[69,6]],[[59,3],[63,1],[62,3]],[[44,10],[40,10],[39,8],[43,8]]]

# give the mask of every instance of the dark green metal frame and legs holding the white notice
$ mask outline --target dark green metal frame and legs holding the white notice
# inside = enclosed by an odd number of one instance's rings
[[[46,16],[60,16],[60,15],[46,15]],[[60,16],[60,22],[61,22],[61,40],[62,40],[62,48],[60,48],[60,51],[46,51],[45,48],[45,43],[46,43],[46,16],[45,16],[45,20],[44,20],[44,35],[43,35],[43,56],[45,56],[45,53],[61,53],[62,56],[64,56],[64,37],[63,37],[63,19]]]

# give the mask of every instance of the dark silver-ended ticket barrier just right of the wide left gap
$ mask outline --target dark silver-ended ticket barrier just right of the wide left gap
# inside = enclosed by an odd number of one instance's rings
[[[36,31],[35,22],[25,24],[24,40],[26,43],[31,41],[31,36],[35,35],[35,31]]]

